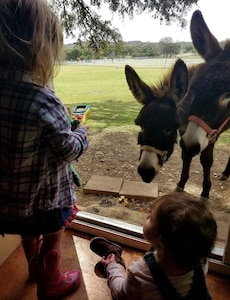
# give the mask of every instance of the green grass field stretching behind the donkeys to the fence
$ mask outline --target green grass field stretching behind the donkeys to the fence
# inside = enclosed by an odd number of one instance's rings
[[[147,83],[157,82],[165,70],[135,68]],[[71,111],[76,104],[91,105],[90,130],[135,130],[141,109],[126,82],[124,67],[63,65],[54,79],[57,96]]]

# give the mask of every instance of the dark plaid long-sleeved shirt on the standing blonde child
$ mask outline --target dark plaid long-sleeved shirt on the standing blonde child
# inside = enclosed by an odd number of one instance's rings
[[[70,162],[88,147],[61,101],[28,74],[0,68],[0,217],[19,219],[76,202]]]

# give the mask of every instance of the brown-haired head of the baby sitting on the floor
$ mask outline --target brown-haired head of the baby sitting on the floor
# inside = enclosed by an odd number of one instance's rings
[[[156,250],[163,249],[178,266],[191,268],[210,254],[217,224],[204,203],[171,193],[154,202],[143,232]]]

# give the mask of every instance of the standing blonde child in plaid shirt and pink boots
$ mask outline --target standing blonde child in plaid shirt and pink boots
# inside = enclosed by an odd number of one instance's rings
[[[22,236],[39,300],[62,299],[81,282],[79,270],[60,270],[76,203],[71,162],[88,147],[87,126],[71,131],[47,87],[62,50],[46,0],[0,1],[0,234]]]

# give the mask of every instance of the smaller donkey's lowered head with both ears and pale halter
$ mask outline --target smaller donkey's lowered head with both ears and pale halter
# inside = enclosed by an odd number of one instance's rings
[[[125,74],[133,96],[143,105],[135,120],[141,127],[138,173],[149,183],[173,153],[180,126],[177,105],[188,89],[188,70],[178,59],[163,80],[151,87],[129,65],[125,66]]]

